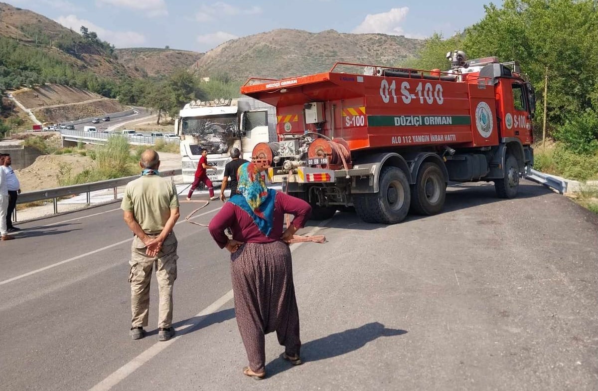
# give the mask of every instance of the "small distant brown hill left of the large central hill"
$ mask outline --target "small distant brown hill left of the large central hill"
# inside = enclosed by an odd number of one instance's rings
[[[168,76],[176,69],[187,69],[203,56],[197,51],[149,47],[116,49],[115,53],[118,62],[129,72],[149,77]]]

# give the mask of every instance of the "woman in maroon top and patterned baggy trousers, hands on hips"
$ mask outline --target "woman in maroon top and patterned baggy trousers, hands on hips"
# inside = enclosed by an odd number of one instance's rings
[[[282,359],[300,365],[299,312],[295,299],[288,241],[303,228],[311,207],[307,202],[268,189],[253,163],[238,171],[238,194],[230,198],[209,225],[212,238],[231,253],[234,311],[249,366],[243,374],[266,377],[264,334],[276,331],[285,347]],[[285,213],[295,216],[283,232]],[[233,239],[224,229],[230,227]]]

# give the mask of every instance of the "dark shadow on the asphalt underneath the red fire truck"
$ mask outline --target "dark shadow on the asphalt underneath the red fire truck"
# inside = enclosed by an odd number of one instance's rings
[[[516,201],[517,199],[535,198],[547,194],[553,194],[553,192],[544,186],[534,184],[533,182],[529,181],[521,181],[519,185],[519,193],[514,199],[498,198],[492,183],[482,185],[474,183],[454,184],[447,188],[446,201],[444,202],[443,211],[437,216],[440,216],[444,213],[478,207],[480,205],[488,205],[495,202],[512,202]],[[407,216],[407,219],[405,219],[401,224],[424,218],[434,219],[434,216],[420,216],[410,213]],[[315,228],[318,226],[318,223],[319,222],[310,220],[306,225],[306,228]],[[385,228],[387,226],[388,225],[384,224],[364,223],[361,221],[361,219],[359,219],[355,212],[337,212],[334,217],[332,217],[332,219],[317,232],[317,234],[326,235],[326,230],[329,228],[373,231],[374,229]],[[307,230],[304,230],[300,234],[306,234],[306,232]]]

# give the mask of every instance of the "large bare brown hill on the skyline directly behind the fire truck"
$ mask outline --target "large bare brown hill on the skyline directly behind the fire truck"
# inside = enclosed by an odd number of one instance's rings
[[[323,72],[337,61],[391,66],[414,55],[422,44],[422,40],[397,35],[279,29],[221,44],[191,66],[191,71],[199,76],[225,73],[244,80]]]

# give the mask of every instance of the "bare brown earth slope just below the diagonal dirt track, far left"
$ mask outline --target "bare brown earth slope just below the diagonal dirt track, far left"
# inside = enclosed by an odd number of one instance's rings
[[[82,118],[102,117],[106,114],[127,110],[116,99],[82,102],[65,106],[45,107],[35,110],[39,120],[47,122],[67,122]]]

